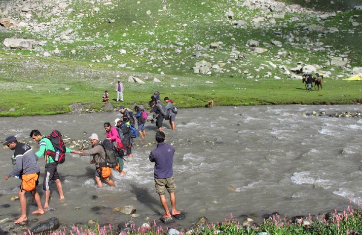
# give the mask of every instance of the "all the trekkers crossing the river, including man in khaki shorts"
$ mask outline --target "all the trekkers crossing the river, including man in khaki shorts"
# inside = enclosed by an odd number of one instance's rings
[[[93,133],[90,137],[92,147],[86,150],[73,150],[67,148],[62,140],[59,131],[54,130],[51,135],[42,135],[39,130],[32,130],[30,137],[33,141],[39,143],[39,150],[37,152],[25,143],[18,142],[15,136],[8,136],[3,143],[14,151],[12,157],[13,164],[16,165],[13,170],[5,175],[5,180],[9,177],[21,178],[22,182],[18,191],[18,196],[21,206],[21,215],[14,223],[22,223],[27,221],[26,216],[26,198],[25,192],[29,191],[37,204],[38,209],[33,211],[32,214],[42,215],[49,208],[50,200],[50,183],[53,180],[59,193],[59,199],[64,200],[62,184],[60,181],[59,173],[57,171],[58,164],[65,161],[65,153],[72,152],[80,155],[92,155],[93,160],[91,164],[95,164],[95,182],[98,187],[102,187],[102,181],[110,186],[116,186],[111,179],[112,169],[116,169],[119,173],[125,175],[123,171],[124,156],[133,158],[132,143],[133,138],[137,137],[138,133],[141,138],[146,137],[144,124],[147,120],[153,121],[156,119],[156,126],[158,131],[156,133],[157,148],[154,149],[149,156],[151,162],[155,162],[155,188],[160,196],[161,205],[165,210],[163,218],[179,215],[180,212],[175,208],[175,195],[174,195],[174,181],[172,162],[175,149],[173,146],[164,143],[165,133],[162,130],[163,119],[170,122],[171,129],[175,130],[175,116],[177,108],[173,105],[173,101],[168,97],[164,98],[167,103],[166,106],[160,101],[159,92],[152,95],[152,100],[149,102],[151,107],[150,111],[145,111],[139,106],[135,106],[135,114],[132,110],[120,106],[121,119],[115,120],[115,126],[106,122],[103,127],[106,131],[106,139],[100,141],[98,135]],[[154,112],[152,119],[148,119],[148,114]],[[138,129],[134,125],[137,121]],[[112,160],[112,154],[114,154]],[[42,206],[40,195],[37,192],[37,185],[39,183],[40,167],[38,159],[43,156],[45,160],[45,173],[43,180],[43,189],[45,190],[45,203]],[[156,167],[157,166],[157,167]],[[170,194],[170,201],[172,205],[171,213],[167,207],[165,198],[165,191]]]

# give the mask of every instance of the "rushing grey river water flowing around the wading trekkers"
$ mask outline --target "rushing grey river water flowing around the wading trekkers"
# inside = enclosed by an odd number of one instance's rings
[[[361,201],[362,120],[305,115],[312,111],[332,114],[360,108],[359,105],[267,105],[181,109],[176,118],[177,130],[172,132],[165,121],[164,131],[167,142],[176,148],[173,163],[176,207],[187,217],[168,226],[190,227],[201,216],[209,221],[222,221],[230,219],[231,213],[234,218],[246,214],[259,219],[274,211],[282,216],[317,214],[345,209],[350,200]],[[59,129],[71,139],[88,139],[91,133],[97,133],[104,139],[103,123],[113,124],[119,115],[2,117],[0,139],[16,135],[36,149],[38,144],[29,137],[32,129],[39,129],[42,134]],[[65,201],[58,201],[53,184],[52,210],[43,216],[33,216],[31,211],[35,207],[28,203],[28,220],[57,217],[63,224],[86,224],[90,219],[117,224],[128,221],[130,216],[111,209],[133,205],[140,214],[133,218],[137,226],[153,220],[159,224],[163,210],[154,189],[154,164],[148,160],[156,146],[156,127],[147,123],[146,132],[146,139],[135,140],[134,158],[126,159],[127,175],[114,172],[117,187],[97,188],[90,157],[68,154],[66,162],[58,166]],[[20,181],[4,180],[4,175],[12,169],[13,151],[2,148],[0,154],[3,173],[0,205],[11,205],[1,210],[2,221],[14,219],[14,213],[20,213],[19,201],[10,200],[17,195]],[[40,160],[39,165],[42,182],[44,161]],[[38,189],[44,204],[41,184]],[[95,206],[111,209],[93,212],[91,208]],[[31,225],[35,222],[30,222]]]

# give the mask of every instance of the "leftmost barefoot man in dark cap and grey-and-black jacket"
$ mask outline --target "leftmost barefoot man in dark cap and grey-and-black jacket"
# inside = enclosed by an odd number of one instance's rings
[[[40,201],[39,193],[37,192],[37,185],[39,183],[39,174],[40,168],[38,166],[38,156],[35,155],[34,151],[27,144],[20,143],[14,136],[9,136],[6,138],[3,145],[7,145],[14,152],[14,162],[16,162],[16,167],[7,175],[5,175],[5,180],[9,177],[16,176],[20,174],[22,179],[20,189],[18,191],[21,215],[14,223],[26,222],[26,198],[25,192],[31,192],[35,203],[37,203],[38,210],[33,211],[32,214],[44,214],[42,203]]]

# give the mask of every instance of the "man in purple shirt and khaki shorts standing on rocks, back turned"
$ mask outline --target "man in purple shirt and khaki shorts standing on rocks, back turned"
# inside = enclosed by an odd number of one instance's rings
[[[165,214],[162,218],[170,218],[171,216],[181,214],[180,211],[176,210],[176,198],[175,198],[175,183],[173,179],[173,155],[175,148],[172,145],[166,144],[165,133],[162,131],[156,132],[157,147],[150,153],[149,159],[155,163],[154,177],[155,177],[155,188],[156,192],[160,195],[160,201]],[[171,201],[171,213],[168,210],[166,190],[170,194]]]

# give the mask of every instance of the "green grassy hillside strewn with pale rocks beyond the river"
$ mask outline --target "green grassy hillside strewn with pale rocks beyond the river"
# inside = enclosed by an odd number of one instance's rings
[[[0,50],[0,116],[113,110],[100,100],[117,80],[131,107],[156,90],[178,107],[359,103],[342,80],[362,72],[356,1],[283,2],[2,1],[0,41],[35,47]],[[323,72],[323,90],[306,92],[298,66]]]

